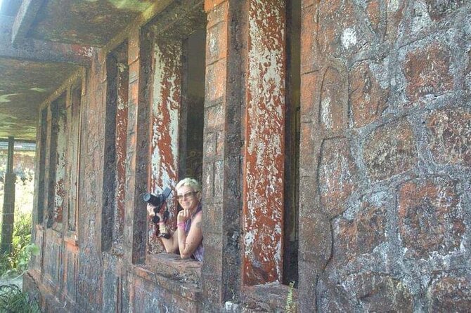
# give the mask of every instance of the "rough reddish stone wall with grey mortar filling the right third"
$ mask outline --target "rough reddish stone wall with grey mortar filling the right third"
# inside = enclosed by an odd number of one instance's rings
[[[466,1],[303,1],[303,312],[465,312]]]

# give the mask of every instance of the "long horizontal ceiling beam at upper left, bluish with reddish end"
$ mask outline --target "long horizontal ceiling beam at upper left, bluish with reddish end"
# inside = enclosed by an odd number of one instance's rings
[[[0,58],[13,58],[35,62],[61,62],[88,66],[93,48],[78,44],[60,44],[52,41],[24,38],[20,44],[11,44],[13,18],[0,15]]]

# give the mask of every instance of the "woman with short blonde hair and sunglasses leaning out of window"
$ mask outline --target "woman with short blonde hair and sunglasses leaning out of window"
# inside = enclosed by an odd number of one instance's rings
[[[185,178],[176,184],[176,199],[183,210],[176,215],[176,231],[169,239],[162,238],[167,253],[179,251],[182,259],[193,258],[202,261],[204,249],[202,247],[201,231],[201,185],[193,178]],[[152,204],[147,204],[147,211],[150,217],[155,215]],[[162,215],[157,213],[160,218],[159,229],[161,233],[167,233]]]

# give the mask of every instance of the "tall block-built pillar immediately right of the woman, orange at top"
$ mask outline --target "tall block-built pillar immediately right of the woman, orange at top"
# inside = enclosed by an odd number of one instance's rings
[[[203,144],[203,297],[219,305],[240,293],[240,139],[243,1],[205,1],[207,52]],[[211,309],[211,308],[207,308]]]

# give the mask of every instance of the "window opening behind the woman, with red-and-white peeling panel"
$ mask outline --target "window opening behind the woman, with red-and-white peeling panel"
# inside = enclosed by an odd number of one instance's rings
[[[206,33],[199,30],[205,17],[200,11],[194,13],[198,16],[195,24],[185,29],[159,32],[162,29],[154,25],[149,189],[155,194],[175,186],[181,178],[202,178]],[[174,227],[177,211],[174,196],[167,199],[169,227]],[[153,234],[155,225],[150,222],[148,255],[162,252]]]

